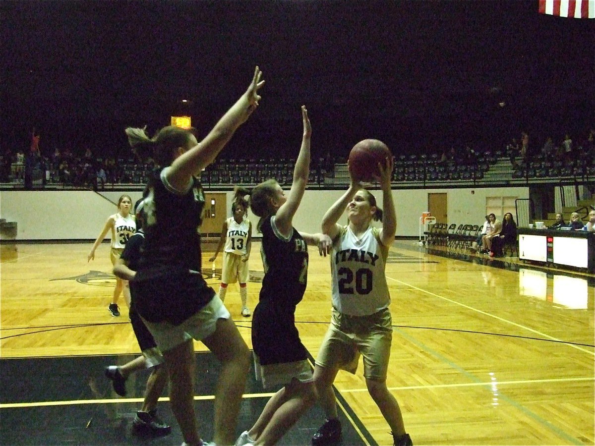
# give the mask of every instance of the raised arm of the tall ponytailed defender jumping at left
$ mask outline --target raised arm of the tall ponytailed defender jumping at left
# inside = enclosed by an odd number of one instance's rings
[[[264,84],[261,77],[262,71],[256,67],[248,90],[215,124],[205,139],[174,160],[167,171],[167,180],[173,187],[184,190],[190,177],[198,175],[203,168],[215,161],[237,128],[248,120],[261,99],[258,95],[258,90]]]

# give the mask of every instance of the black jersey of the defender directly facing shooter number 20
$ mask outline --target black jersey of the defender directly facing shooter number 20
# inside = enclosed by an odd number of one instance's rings
[[[261,256],[264,278],[260,301],[283,300],[296,306],[303,298],[308,279],[308,246],[295,228],[289,238],[277,232],[274,216],[261,225]]]

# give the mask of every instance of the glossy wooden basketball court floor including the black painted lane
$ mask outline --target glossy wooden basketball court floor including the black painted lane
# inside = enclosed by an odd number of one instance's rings
[[[168,407],[170,435],[133,435],[131,421],[146,382],[141,372],[118,397],[103,376],[139,348],[121,303],[107,306],[114,278],[108,244],[87,263],[90,243],[1,245],[0,444],[181,444]],[[221,256],[203,272],[217,290]],[[258,301],[259,243],[250,258],[249,304]],[[296,311],[302,340],[316,357],[330,317],[328,259],[311,248],[308,289]],[[393,348],[387,384],[416,445],[593,445],[593,275],[487,259],[464,251],[426,250],[399,240],[386,269],[392,296]],[[249,346],[250,318],[240,315],[237,285],[226,305]],[[210,439],[217,364],[196,343],[196,407]],[[365,387],[362,369],[335,382],[345,445],[392,444]],[[239,434],[264,407],[250,373]],[[315,407],[281,444],[306,445],[322,422]]]

